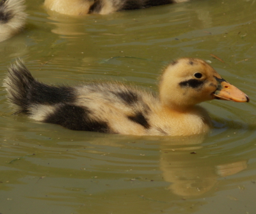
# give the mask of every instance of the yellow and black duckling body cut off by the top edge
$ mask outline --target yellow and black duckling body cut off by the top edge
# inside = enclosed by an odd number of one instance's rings
[[[184,1],[188,0],[45,0],[44,6],[48,10],[66,15],[85,15],[109,14],[120,10],[136,10]]]

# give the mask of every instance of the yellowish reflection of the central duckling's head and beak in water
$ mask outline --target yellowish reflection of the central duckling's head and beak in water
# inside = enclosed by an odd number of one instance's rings
[[[203,139],[202,135],[176,139],[172,148],[161,144],[160,169],[164,180],[171,183],[168,189],[173,194],[186,197],[205,194],[216,185],[220,176],[246,169],[246,160],[217,165],[209,162],[204,153],[197,152],[201,146],[195,146]],[[177,148],[173,147],[175,144]]]

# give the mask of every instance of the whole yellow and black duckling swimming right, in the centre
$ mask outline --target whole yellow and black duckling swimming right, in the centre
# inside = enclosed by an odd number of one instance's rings
[[[8,100],[36,121],[71,130],[125,135],[207,133],[211,118],[197,105],[212,99],[249,102],[205,61],[180,58],[168,65],[153,91],[118,82],[53,86],[36,80],[17,59],[4,80]]]

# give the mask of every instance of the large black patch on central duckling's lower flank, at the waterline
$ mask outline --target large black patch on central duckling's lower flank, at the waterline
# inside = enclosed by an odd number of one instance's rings
[[[92,119],[92,112],[71,104],[61,104],[54,113],[49,114],[45,123],[53,123],[71,130],[113,133],[105,121]]]

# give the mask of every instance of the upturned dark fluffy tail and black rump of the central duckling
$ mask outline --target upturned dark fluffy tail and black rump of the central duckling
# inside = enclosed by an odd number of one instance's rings
[[[76,98],[72,87],[50,86],[36,80],[20,59],[8,67],[3,86],[8,100],[17,109],[16,114],[33,116],[42,105],[50,108],[57,103],[74,102]]]

